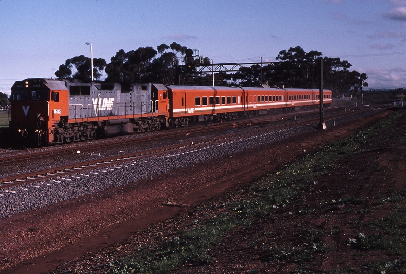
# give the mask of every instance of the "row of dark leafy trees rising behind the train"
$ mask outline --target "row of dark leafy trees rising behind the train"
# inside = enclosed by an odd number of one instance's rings
[[[106,81],[176,84],[177,70],[184,85],[212,85],[212,75],[197,73],[199,65],[210,65],[208,57],[192,56],[185,46],[173,42],[153,47],[139,47],[125,52],[120,49],[110,63],[103,58],[93,58],[93,74],[100,80],[103,72]],[[282,50],[275,58],[278,62],[265,66],[242,67],[238,72],[215,74],[217,86],[269,86],[287,88],[319,88],[320,60],[323,62],[323,87],[331,89],[335,97],[351,92],[356,95],[362,86],[368,86],[365,73],[351,71],[348,61],[323,57],[319,51],[304,51],[300,46]],[[58,79],[89,81],[91,60],[84,55],[67,59],[55,72]]]

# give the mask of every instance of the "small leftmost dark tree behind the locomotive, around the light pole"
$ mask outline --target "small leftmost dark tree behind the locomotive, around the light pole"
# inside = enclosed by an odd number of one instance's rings
[[[95,79],[100,79],[106,66],[106,60],[103,58],[93,58],[93,75]],[[91,79],[91,60],[84,55],[76,56],[65,61],[65,64],[59,66],[55,72],[58,79],[77,79],[90,81]]]

